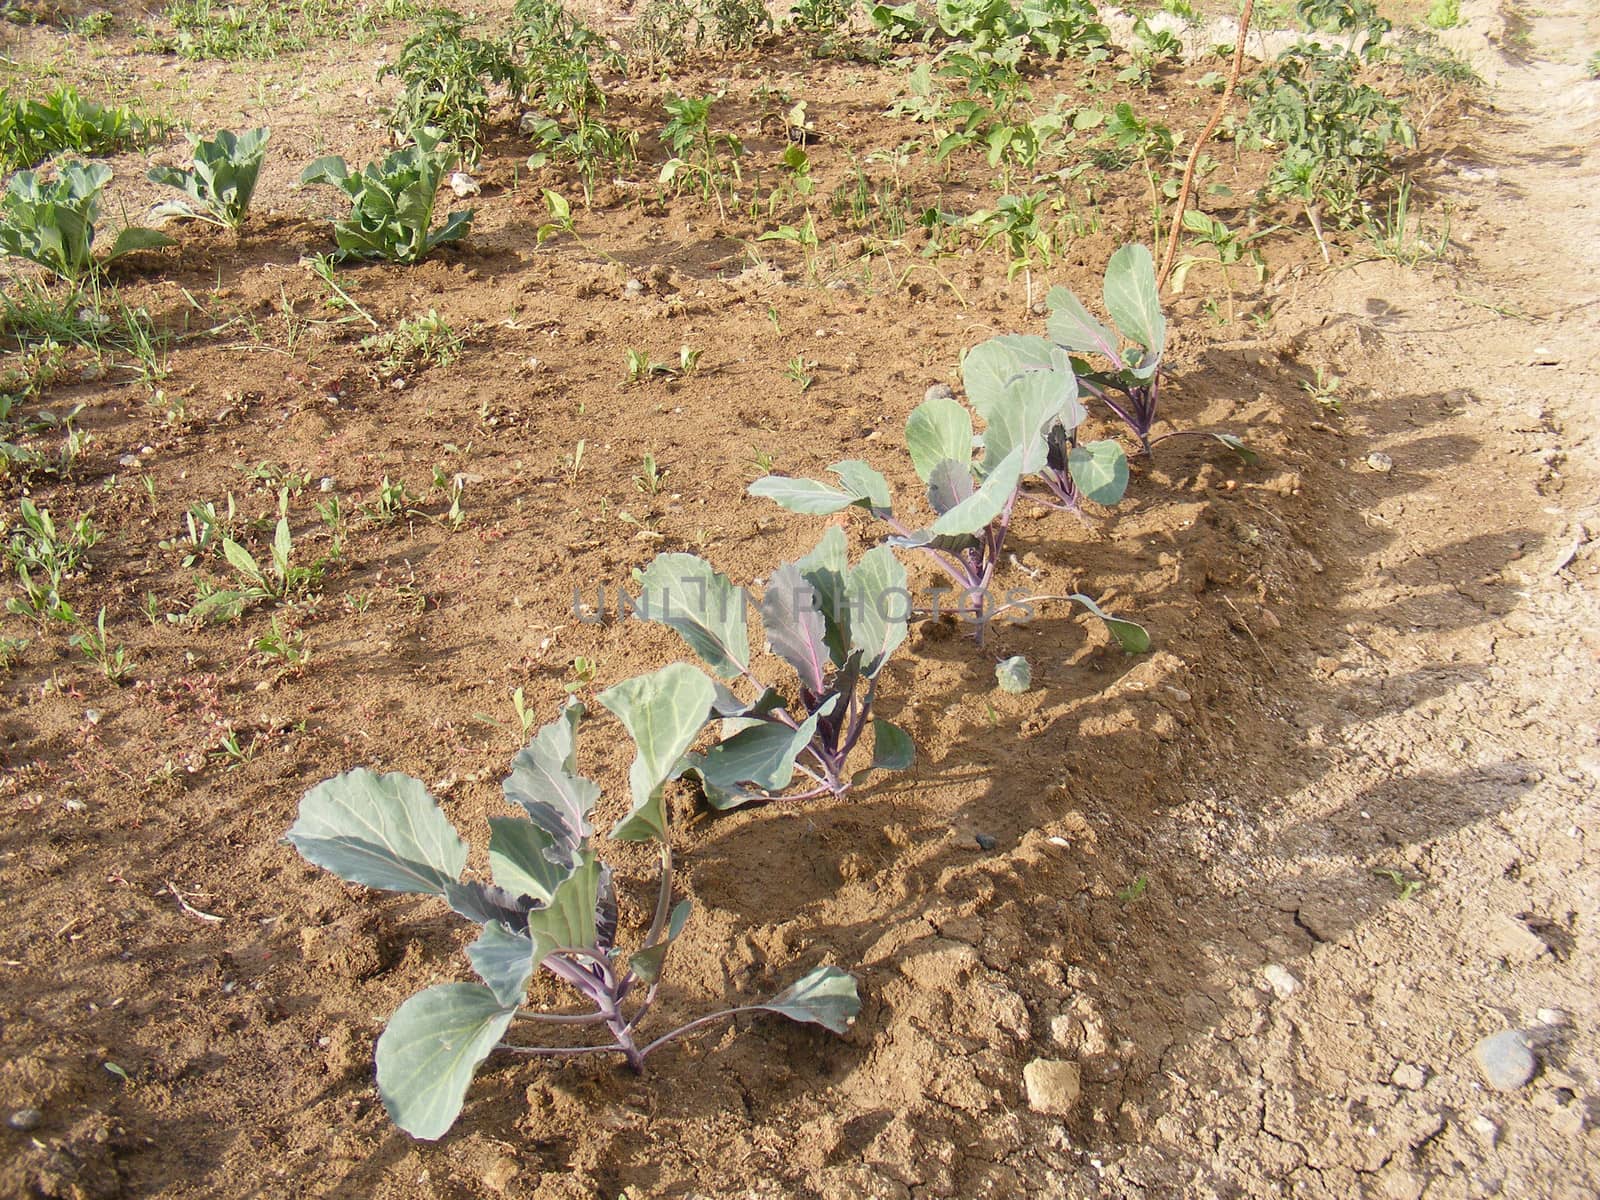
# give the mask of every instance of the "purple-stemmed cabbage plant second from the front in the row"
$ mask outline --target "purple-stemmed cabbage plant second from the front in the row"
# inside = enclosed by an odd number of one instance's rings
[[[910,766],[910,734],[872,715],[910,616],[906,568],[893,550],[867,550],[851,568],[845,533],[834,528],[805,558],[773,571],[760,618],[766,643],[798,677],[787,698],[750,669],[746,594],[728,576],[693,554],[662,554],[634,579],[640,618],[678,630],[722,678],[755,688],[744,701],[718,685],[712,712],[722,741],[688,758],[712,808],[843,795],[870,771]],[[869,726],[872,765],[851,774],[845,763]],[[784,795],[797,774],[811,786]]]

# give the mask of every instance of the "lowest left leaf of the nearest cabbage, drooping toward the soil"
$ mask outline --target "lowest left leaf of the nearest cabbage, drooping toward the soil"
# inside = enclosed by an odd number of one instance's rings
[[[515,1013],[482,984],[438,984],[400,1005],[378,1038],[378,1094],[390,1120],[413,1138],[442,1138]]]

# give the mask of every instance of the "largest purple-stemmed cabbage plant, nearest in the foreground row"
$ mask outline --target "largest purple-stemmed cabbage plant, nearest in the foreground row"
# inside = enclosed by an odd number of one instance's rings
[[[474,1072],[494,1051],[552,1058],[616,1053],[643,1070],[658,1046],[739,1013],[778,1013],[843,1034],[861,1011],[854,978],[819,966],[771,1000],[698,1018],[653,1040],[640,1034],[667,950],[690,915],[690,901],[672,904],[662,792],[715,698],[715,685],[683,662],[626,680],[598,698],[637,747],[629,773],[634,805],[611,837],[656,842],[661,850],[654,915],[630,954],[618,946],[611,870],[592,845],[600,787],[578,774],[582,707],[576,702],[512,760],[504,792],[520,814],[490,818],[491,882],[464,878],[467,843],[418,779],[357,768],[301,800],[288,842],[306,859],[349,883],[438,896],[483,926],[467,947],[482,982],[418,992],[378,1038],[378,1093],[395,1125],[413,1138],[435,1139],[450,1130]],[[568,984],[589,1011],[525,1008],[539,970]],[[598,1026],[606,1038],[531,1045],[507,1037],[515,1022],[550,1030]]]

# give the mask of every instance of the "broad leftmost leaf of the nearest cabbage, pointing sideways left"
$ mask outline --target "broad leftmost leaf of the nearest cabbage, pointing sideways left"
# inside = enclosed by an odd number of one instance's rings
[[[306,792],[288,842],[350,883],[443,896],[467,866],[467,843],[427,789],[365,766]]]

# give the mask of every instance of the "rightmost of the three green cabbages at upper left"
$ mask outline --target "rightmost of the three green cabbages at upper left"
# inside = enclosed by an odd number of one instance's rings
[[[432,130],[418,130],[416,141],[350,174],[344,158],[318,158],[301,173],[301,184],[338,187],[350,200],[350,216],[333,222],[339,258],[421,262],[446,242],[467,234],[472,210],[445,218],[434,229],[434,198],[456,155],[440,147]]]

